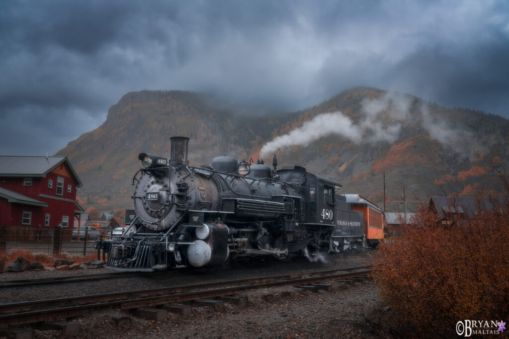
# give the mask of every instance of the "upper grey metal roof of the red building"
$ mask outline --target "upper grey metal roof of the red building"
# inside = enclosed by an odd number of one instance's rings
[[[81,181],[65,156],[0,155],[0,177],[45,177],[48,172],[63,162],[74,175],[78,183],[77,187],[81,187]]]

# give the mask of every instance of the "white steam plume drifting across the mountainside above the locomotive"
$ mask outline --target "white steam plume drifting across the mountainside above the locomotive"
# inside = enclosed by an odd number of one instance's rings
[[[355,143],[388,142],[393,144],[401,134],[403,123],[413,122],[422,126],[431,138],[443,146],[459,146],[464,150],[471,148],[473,134],[466,130],[451,128],[445,121],[436,121],[424,105],[410,111],[412,98],[408,95],[387,92],[375,99],[364,99],[361,107],[361,119],[357,124],[342,112],[326,113],[305,122],[302,127],[290,133],[277,136],[265,144],[260,157],[264,158],[278,149],[290,146],[307,146],[324,136],[336,134]]]

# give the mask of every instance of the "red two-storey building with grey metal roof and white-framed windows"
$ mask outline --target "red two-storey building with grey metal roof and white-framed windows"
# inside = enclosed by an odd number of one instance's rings
[[[81,181],[65,156],[0,156],[0,225],[73,228]]]

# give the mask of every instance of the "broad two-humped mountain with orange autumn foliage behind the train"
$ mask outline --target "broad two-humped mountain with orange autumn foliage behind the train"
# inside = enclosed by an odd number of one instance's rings
[[[287,140],[295,137],[294,144],[270,152],[267,163],[276,153],[279,167],[301,164],[343,183],[342,192],[359,193],[381,206],[385,172],[391,211],[402,207],[403,187],[409,209],[416,207],[414,197],[424,201],[444,191],[472,195],[483,188],[500,194],[493,164],[509,159],[507,119],[370,88],[278,114],[228,106],[203,93],[128,93],[111,106],[102,126],[57,155],[69,157],[83,182],[79,202],[110,210],[132,206],[137,155],[169,156],[171,136],[188,136],[190,163],[201,165],[225,154],[256,161],[265,144],[285,134]]]

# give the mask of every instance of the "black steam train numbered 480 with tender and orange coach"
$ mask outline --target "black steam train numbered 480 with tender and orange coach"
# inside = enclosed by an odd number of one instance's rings
[[[135,217],[122,236],[99,239],[105,267],[155,271],[253,258],[340,252],[383,238],[383,212],[302,166],[273,168],[229,156],[189,166],[189,138],[171,138],[169,159],[149,153],[133,177]],[[107,254],[107,256],[106,256]],[[100,254],[99,254],[100,255]]]

